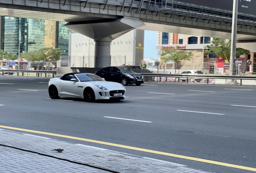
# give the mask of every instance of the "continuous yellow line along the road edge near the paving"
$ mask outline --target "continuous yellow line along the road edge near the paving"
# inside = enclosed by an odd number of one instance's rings
[[[132,150],[135,150],[135,151],[143,151],[143,152],[147,152],[147,153],[166,155],[166,156],[170,156],[170,157],[177,157],[177,158],[187,159],[187,160],[192,160],[192,161],[200,161],[200,162],[204,162],[204,163],[211,163],[211,164],[214,164],[214,165],[221,165],[221,166],[225,166],[225,167],[233,167],[233,168],[237,168],[237,169],[256,171],[256,168],[253,168],[253,167],[245,167],[245,166],[240,166],[240,165],[233,165],[231,163],[223,163],[223,162],[218,162],[218,161],[200,159],[200,158],[196,158],[196,157],[177,155],[177,154],[172,154],[172,153],[165,153],[165,152],[155,151],[155,150],[150,150],[150,149],[142,149],[142,148],[138,148],[138,147],[131,147],[131,146],[128,146],[128,145],[120,145],[120,144],[115,144],[115,143],[96,141],[96,140],[92,140],[92,139],[72,137],[72,136],[68,136],[68,135],[60,135],[60,134],[56,134],[56,133],[34,131],[34,130],[29,130],[29,129],[21,129],[21,128],[16,128],[16,127],[2,126],[2,125],[0,125],[0,127],[4,128],[4,129],[12,129],[12,130],[17,130],[17,131],[25,131],[25,132],[37,133],[37,134],[43,134],[43,135],[50,135],[50,136],[55,136],[55,137],[63,137],[63,138],[75,139],[75,140],[79,140],[79,141],[87,141],[87,142],[91,142],[91,143],[99,143],[99,144],[103,144],[103,145],[109,145],[109,146],[120,147],[120,148],[125,148],[125,149],[132,149]]]

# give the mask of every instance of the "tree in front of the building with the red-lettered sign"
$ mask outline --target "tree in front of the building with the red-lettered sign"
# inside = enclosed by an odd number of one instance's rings
[[[165,63],[168,61],[173,61],[175,64],[177,64],[177,66],[180,61],[190,60],[193,56],[193,53],[191,51],[188,52],[186,50],[178,50],[175,48],[161,49],[161,52],[161,60],[163,60]]]

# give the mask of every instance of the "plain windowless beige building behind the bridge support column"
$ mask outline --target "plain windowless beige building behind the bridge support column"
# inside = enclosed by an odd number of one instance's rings
[[[109,66],[139,65],[144,54],[144,30],[132,30],[110,43]],[[95,41],[78,33],[70,34],[69,64],[74,67],[96,67]]]

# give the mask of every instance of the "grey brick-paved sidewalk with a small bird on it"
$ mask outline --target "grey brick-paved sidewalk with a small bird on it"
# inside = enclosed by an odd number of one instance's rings
[[[58,153],[52,149],[62,148]],[[209,173],[170,163],[0,129],[0,173]]]

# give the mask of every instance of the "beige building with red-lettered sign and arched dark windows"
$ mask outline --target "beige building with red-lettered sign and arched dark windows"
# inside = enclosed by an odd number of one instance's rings
[[[209,44],[213,38],[203,36],[192,36],[185,34],[176,34],[168,32],[158,32],[157,35],[157,50],[166,48],[177,48],[180,50],[188,50],[193,53],[191,60],[182,61],[176,67],[183,70],[202,70],[207,74],[228,74],[229,62],[216,54],[204,54],[204,47]],[[244,72],[249,71],[248,60],[249,55],[241,55],[235,58],[235,66],[238,72],[242,70]],[[240,65],[239,65],[240,64]],[[173,69],[173,62],[166,63],[166,69]]]

